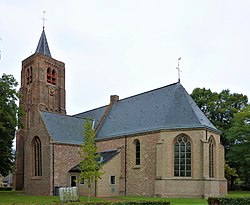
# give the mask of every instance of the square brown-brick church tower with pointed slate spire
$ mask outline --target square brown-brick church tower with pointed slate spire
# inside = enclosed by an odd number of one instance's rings
[[[39,111],[66,114],[65,64],[52,58],[44,28],[35,53],[22,61],[20,94],[24,114],[16,134],[16,190],[24,187],[25,139],[39,123]]]

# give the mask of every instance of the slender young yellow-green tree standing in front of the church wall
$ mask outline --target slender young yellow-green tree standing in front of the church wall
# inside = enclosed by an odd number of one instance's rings
[[[80,181],[87,181],[89,188],[88,200],[90,200],[91,185],[101,178],[100,155],[96,153],[97,147],[95,144],[95,130],[92,129],[90,119],[84,123],[84,144],[82,145],[80,153]]]

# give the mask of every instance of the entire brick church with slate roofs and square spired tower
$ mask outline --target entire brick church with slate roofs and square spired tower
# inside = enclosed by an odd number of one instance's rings
[[[79,181],[84,123],[92,121],[103,164],[93,196],[208,197],[227,194],[221,132],[180,82],[92,110],[67,115],[65,64],[52,58],[43,28],[34,54],[22,61],[14,187],[56,195]]]

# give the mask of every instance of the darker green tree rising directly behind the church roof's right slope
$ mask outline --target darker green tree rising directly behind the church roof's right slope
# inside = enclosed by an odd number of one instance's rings
[[[222,131],[221,142],[227,152],[230,142],[226,131],[232,126],[233,115],[248,105],[247,96],[238,93],[231,94],[229,90],[217,93],[210,89],[195,88],[191,97],[207,118]]]

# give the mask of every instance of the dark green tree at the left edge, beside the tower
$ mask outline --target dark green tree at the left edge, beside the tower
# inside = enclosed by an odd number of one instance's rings
[[[18,124],[18,83],[12,75],[0,78],[0,173],[7,175],[13,164],[12,143]]]

